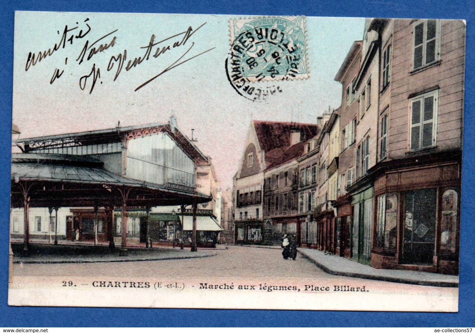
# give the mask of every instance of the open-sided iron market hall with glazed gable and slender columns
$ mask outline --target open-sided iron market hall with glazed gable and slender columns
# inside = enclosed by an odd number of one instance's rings
[[[114,246],[115,208],[121,211],[119,228],[128,230],[129,209],[141,208],[148,215],[155,206],[182,205],[192,207],[191,249],[196,250],[197,205],[211,200],[197,191],[196,169],[207,158],[180,132],[174,117],[168,123],[21,139],[18,146],[22,153],[12,154],[11,206],[23,208],[24,252],[30,208],[51,208],[51,221],[58,208],[74,207],[76,214],[61,222],[66,237],[79,228],[97,239],[100,228],[102,238]],[[142,221],[139,228],[149,230],[149,218]],[[120,236],[126,255],[127,233]]]

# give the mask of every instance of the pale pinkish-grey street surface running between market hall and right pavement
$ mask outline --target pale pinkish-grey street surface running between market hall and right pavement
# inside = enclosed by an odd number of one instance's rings
[[[183,251],[189,252],[186,248]],[[199,249],[213,257],[146,262],[110,262],[85,264],[15,264],[17,276],[163,276],[243,278],[332,277],[302,257],[284,260],[281,250],[273,248],[229,246],[228,249]],[[359,280],[359,279],[356,279]]]

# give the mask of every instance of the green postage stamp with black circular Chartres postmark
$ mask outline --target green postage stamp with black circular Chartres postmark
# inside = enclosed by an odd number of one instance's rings
[[[307,78],[304,18],[270,17],[231,22],[228,81],[252,101],[282,92],[272,81]]]

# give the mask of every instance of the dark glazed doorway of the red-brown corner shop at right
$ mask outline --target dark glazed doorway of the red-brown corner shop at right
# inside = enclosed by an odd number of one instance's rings
[[[402,263],[433,265],[436,240],[436,189],[404,193]]]

